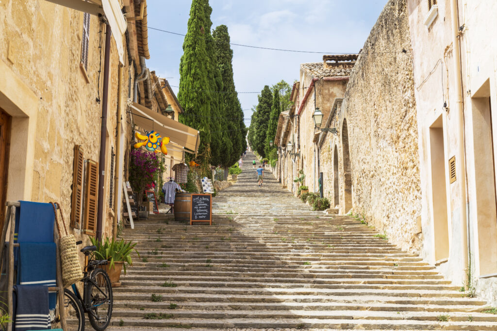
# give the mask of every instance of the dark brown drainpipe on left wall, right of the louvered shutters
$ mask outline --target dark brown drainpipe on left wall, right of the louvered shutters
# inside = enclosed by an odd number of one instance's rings
[[[96,238],[102,240],[103,195],[105,187],[105,136],[107,133],[107,102],[109,96],[110,25],[105,25],[105,54],[103,61],[102,118],[100,128],[100,156],[98,157],[98,213],[96,218]]]

